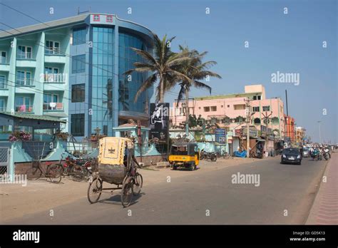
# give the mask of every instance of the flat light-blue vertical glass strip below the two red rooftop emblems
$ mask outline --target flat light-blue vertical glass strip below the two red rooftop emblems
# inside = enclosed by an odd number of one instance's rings
[[[113,133],[114,29],[93,27],[93,73],[89,90],[92,100],[91,133]]]

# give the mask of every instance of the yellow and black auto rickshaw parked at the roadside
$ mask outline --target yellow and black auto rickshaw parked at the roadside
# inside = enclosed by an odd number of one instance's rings
[[[170,165],[173,170],[178,167],[188,167],[195,170],[200,163],[200,150],[196,143],[180,142],[171,146],[169,155]]]

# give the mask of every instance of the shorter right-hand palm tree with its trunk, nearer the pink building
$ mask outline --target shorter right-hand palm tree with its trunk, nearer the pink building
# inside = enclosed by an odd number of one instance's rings
[[[207,77],[216,77],[216,78],[222,78],[217,73],[214,73],[212,71],[208,71],[208,68],[210,66],[214,66],[217,64],[215,61],[206,61],[203,62],[203,57],[208,52],[199,53],[196,50],[189,50],[188,46],[183,47],[180,46],[181,53],[188,54],[188,56],[191,58],[189,61],[184,61],[183,66],[180,66],[178,68],[178,71],[182,73],[183,75],[190,78],[190,80],[181,80],[180,85],[180,92],[178,93],[178,100],[177,104],[180,102],[180,100],[183,99],[183,96],[185,96],[185,123],[188,125],[189,123],[189,91],[192,87],[195,88],[205,88],[210,91],[211,94],[211,87],[208,86],[205,83],[202,83],[201,80],[207,78]]]

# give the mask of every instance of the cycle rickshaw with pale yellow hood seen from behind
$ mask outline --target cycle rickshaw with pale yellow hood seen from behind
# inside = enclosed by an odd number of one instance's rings
[[[128,207],[133,195],[140,194],[143,185],[143,177],[137,170],[133,142],[128,138],[106,137],[99,140],[98,149],[98,172],[89,179],[88,201],[98,202],[103,190],[121,189],[122,205]],[[117,187],[103,188],[103,182]]]

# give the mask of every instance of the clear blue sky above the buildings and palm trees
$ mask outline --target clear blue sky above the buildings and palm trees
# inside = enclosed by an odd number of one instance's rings
[[[267,98],[287,90],[289,114],[312,140],[338,143],[336,0],[0,0],[39,21],[75,16],[80,11],[117,14],[148,27],[158,36],[176,36],[173,51],[185,45],[208,51],[217,61],[211,78],[213,95],[242,93],[244,86],[262,84]],[[53,14],[49,9],[53,8]],[[128,8],[132,13],[128,14]],[[210,12],[207,14],[206,8]],[[287,8],[287,14],[286,9]],[[14,28],[37,21],[0,6],[0,21]],[[0,29],[8,29],[1,26]],[[248,47],[245,47],[245,42]],[[323,47],[323,44],[326,47]],[[274,83],[272,73],[297,73],[299,82]],[[165,95],[173,103],[178,88]],[[190,97],[208,91],[190,92]]]

